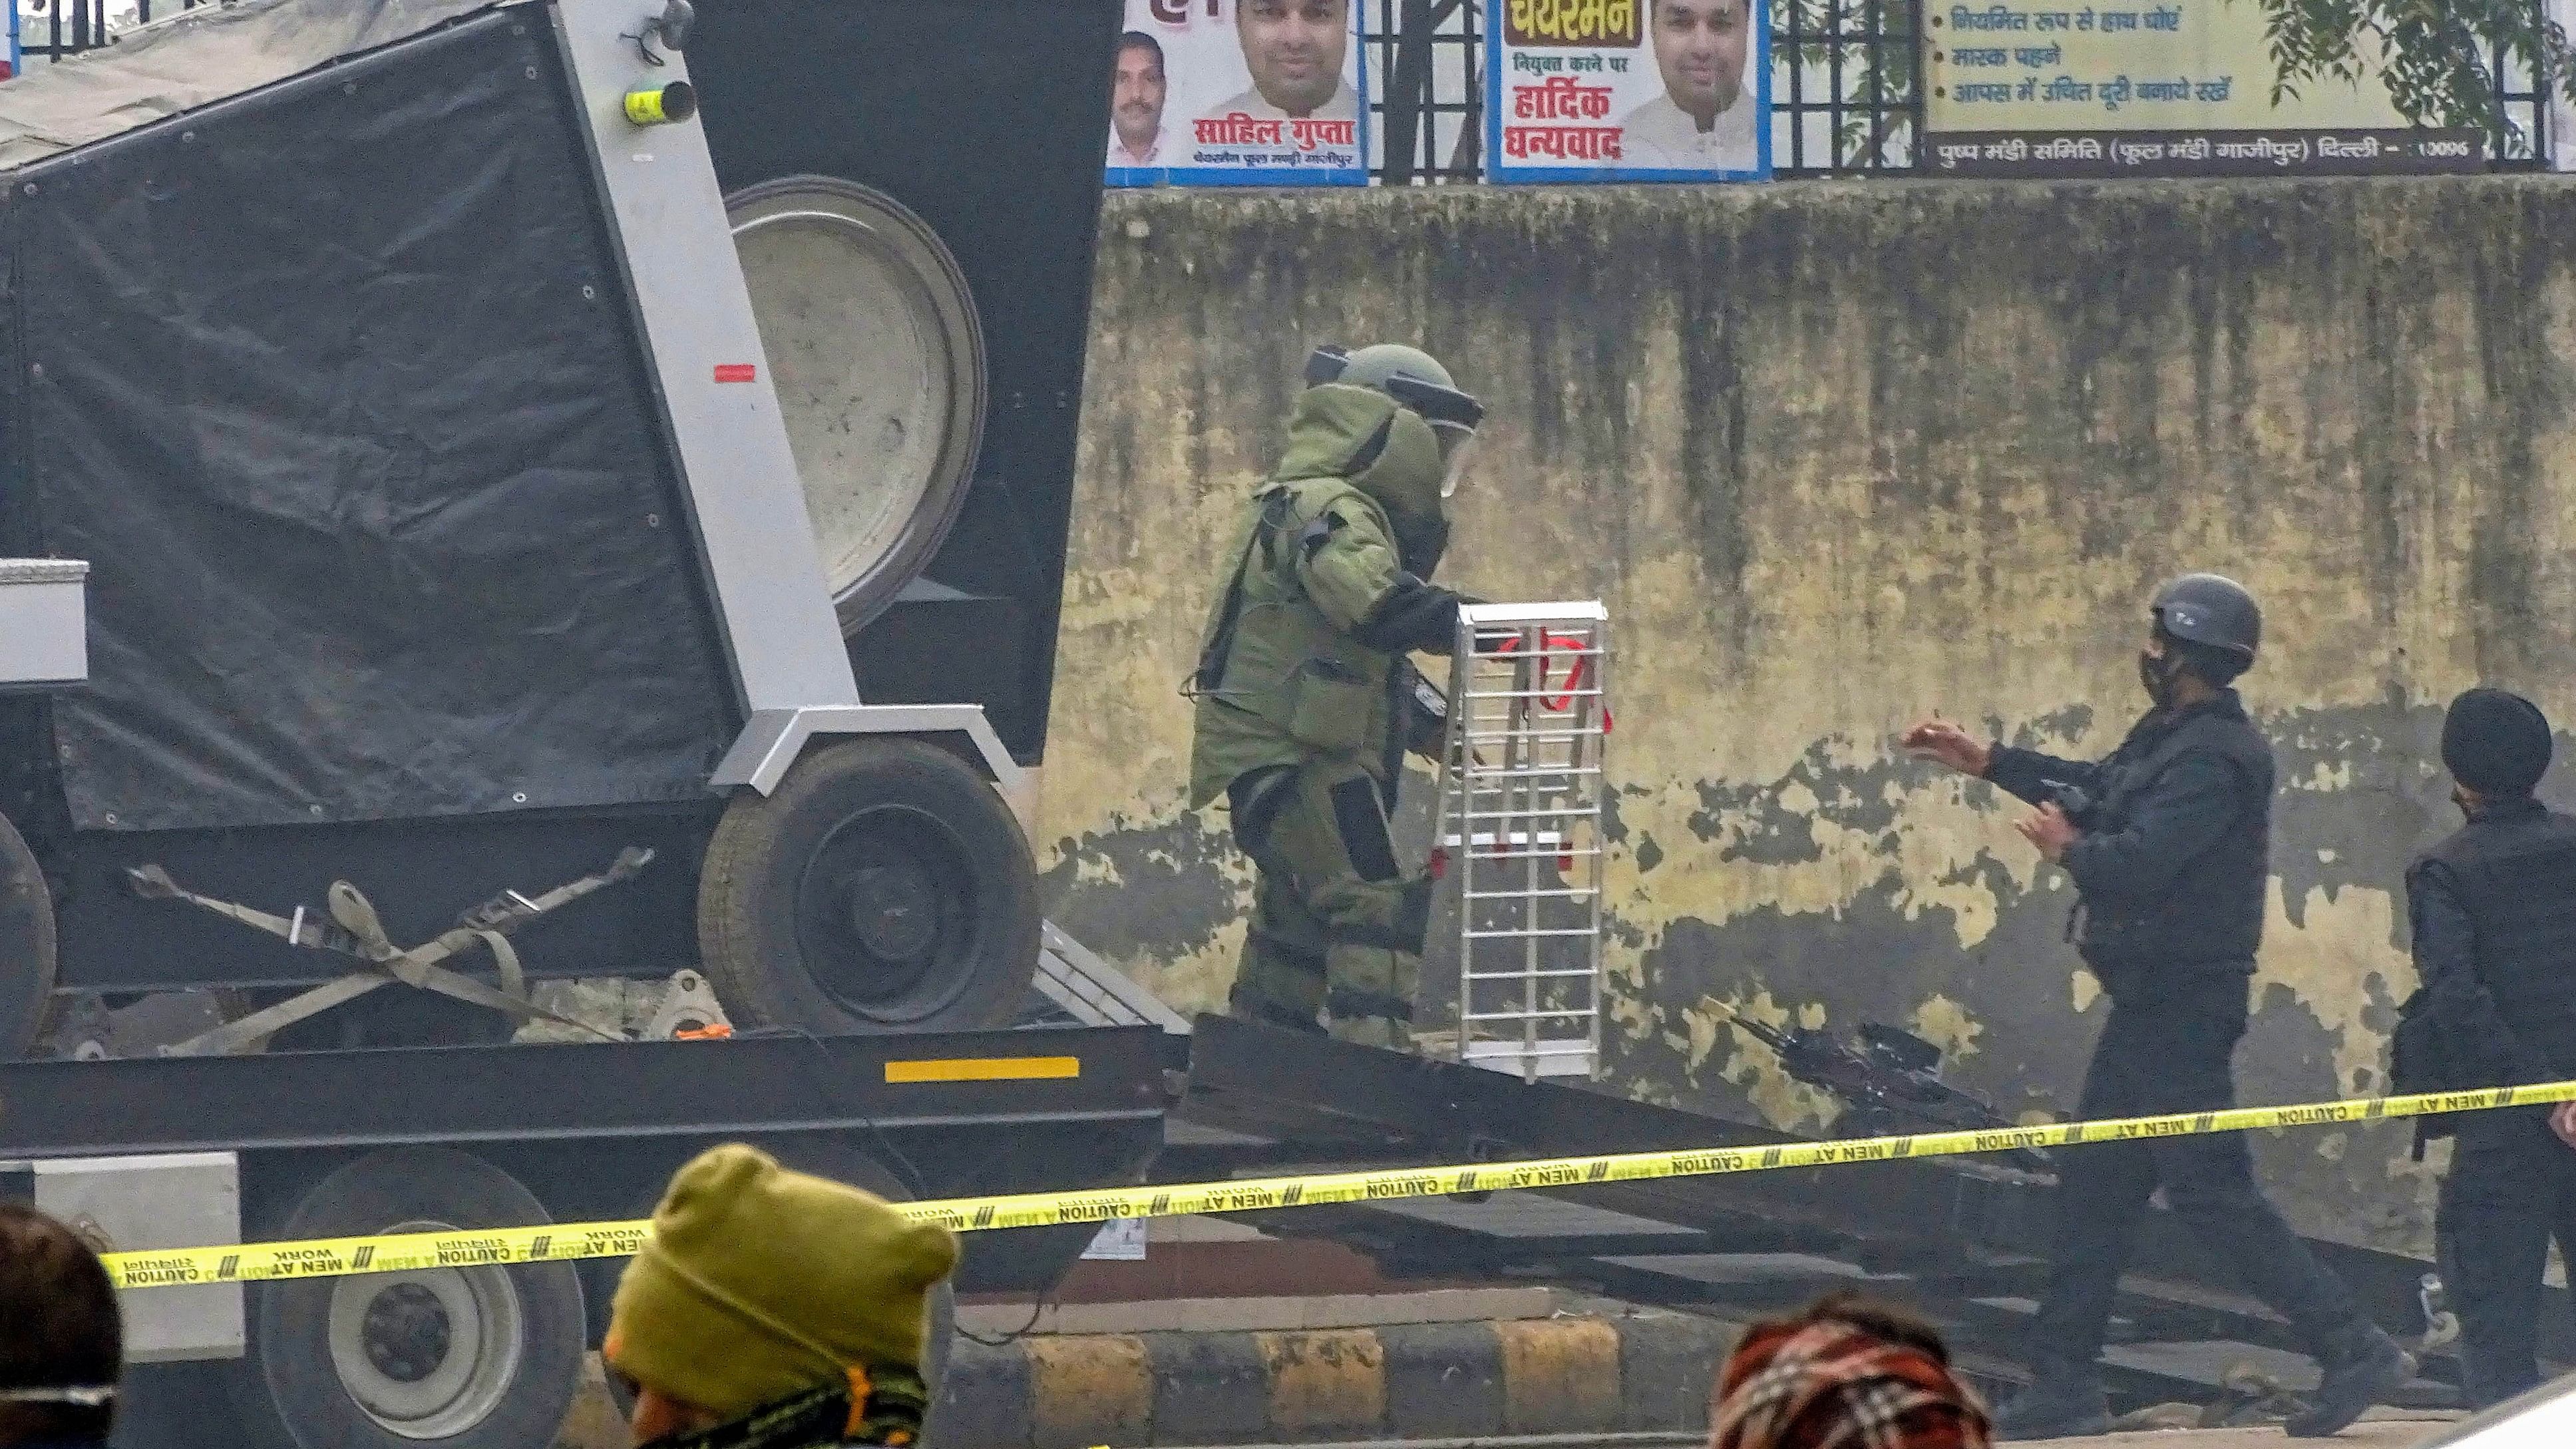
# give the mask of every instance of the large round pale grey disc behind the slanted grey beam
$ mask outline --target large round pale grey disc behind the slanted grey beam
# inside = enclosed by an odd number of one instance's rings
[[[938,554],[984,441],[966,273],[902,201],[783,175],[724,201],[842,634]]]

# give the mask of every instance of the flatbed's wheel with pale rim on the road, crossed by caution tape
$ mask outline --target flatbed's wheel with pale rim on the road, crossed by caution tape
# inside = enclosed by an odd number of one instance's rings
[[[526,1227],[546,1209],[448,1147],[392,1147],[330,1173],[278,1238]],[[422,1269],[255,1284],[234,1408],[273,1449],[551,1444],[582,1377],[572,1263]]]

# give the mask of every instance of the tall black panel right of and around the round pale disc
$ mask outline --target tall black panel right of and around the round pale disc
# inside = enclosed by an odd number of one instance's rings
[[[850,657],[871,699],[963,688],[1020,763],[1043,750],[1056,668],[1118,26],[1118,0],[701,0],[688,41],[726,193],[781,175],[858,180],[930,222],[966,273],[989,407],[974,485],[927,572],[1018,608],[899,598]],[[999,650],[1012,678],[958,678],[961,650]]]

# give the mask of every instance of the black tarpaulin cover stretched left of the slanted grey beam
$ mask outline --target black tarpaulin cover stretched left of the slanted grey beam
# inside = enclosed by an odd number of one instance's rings
[[[515,8],[8,175],[75,825],[706,789],[732,691],[569,106]]]

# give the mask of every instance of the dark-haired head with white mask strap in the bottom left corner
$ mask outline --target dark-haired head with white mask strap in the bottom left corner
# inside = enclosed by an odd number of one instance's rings
[[[106,1444],[124,1320],[106,1263],[70,1227],[0,1201],[0,1444]]]

